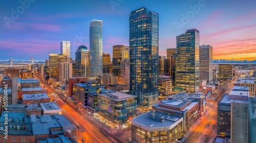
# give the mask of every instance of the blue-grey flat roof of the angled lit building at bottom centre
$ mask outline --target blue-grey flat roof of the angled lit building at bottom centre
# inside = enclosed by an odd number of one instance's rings
[[[166,114],[166,113],[163,113],[163,112],[158,112],[156,111],[155,112],[155,116],[157,117],[162,117],[164,118],[164,121],[161,122],[161,121],[157,121],[157,120],[154,120],[153,118],[150,118],[150,114],[152,113],[153,111],[151,112],[147,112],[147,113],[144,113],[142,115],[139,115],[137,117],[135,117],[133,120],[132,120],[132,124],[136,124],[136,126],[143,126],[145,128],[148,129],[154,129],[154,128],[165,128],[165,127],[172,127],[172,126],[176,126],[177,124],[179,124],[180,122],[182,122],[183,120],[183,117],[179,117],[179,116],[174,116],[174,115],[169,115],[169,114]]]

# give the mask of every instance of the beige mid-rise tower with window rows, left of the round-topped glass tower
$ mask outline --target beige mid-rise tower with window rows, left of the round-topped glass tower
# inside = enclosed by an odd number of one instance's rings
[[[58,81],[60,81],[60,84],[63,85],[65,84],[66,80],[72,78],[72,63],[69,61],[59,62],[58,68]]]

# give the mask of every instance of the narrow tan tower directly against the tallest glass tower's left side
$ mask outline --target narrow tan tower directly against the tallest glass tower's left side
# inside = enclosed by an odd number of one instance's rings
[[[121,61],[121,84],[130,87],[130,60],[124,59]]]

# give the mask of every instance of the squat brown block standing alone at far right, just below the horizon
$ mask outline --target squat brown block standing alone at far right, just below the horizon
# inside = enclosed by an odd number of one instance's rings
[[[233,79],[233,65],[219,64],[218,80],[232,80]]]

